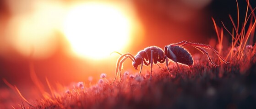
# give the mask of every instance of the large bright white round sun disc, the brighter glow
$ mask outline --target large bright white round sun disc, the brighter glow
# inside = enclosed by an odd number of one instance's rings
[[[102,59],[129,43],[130,20],[118,7],[86,3],[71,9],[64,34],[76,55]]]

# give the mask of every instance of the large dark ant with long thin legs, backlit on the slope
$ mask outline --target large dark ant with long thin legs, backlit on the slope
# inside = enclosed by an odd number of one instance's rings
[[[191,43],[191,42],[188,42],[188,41],[181,41],[179,43],[175,43],[175,44],[170,44],[170,45],[167,45],[164,47],[164,51],[157,47],[157,46],[150,46],[150,47],[147,47],[145,48],[144,50],[141,50],[139,51],[136,56],[133,56],[132,54],[130,53],[126,53],[126,54],[121,54],[117,51],[114,51],[112,53],[118,53],[120,54],[120,58],[118,59],[118,62],[116,64],[116,71],[115,71],[115,78],[114,78],[114,81],[116,80],[117,78],[117,73],[119,71],[119,75],[120,75],[120,82],[122,80],[122,77],[121,77],[121,68],[122,68],[122,64],[123,62],[125,61],[125,59],[129,58],[132,60],[132,65],[133,67],[138,70],[138,66],[141,64],[141,69],[140,69],[140,73],[139,75],[141,75],[141,72],[142,72],[142,67],[143,67],[143,64],[145,65],[149,65],[150,64],[150,67],[151,67],[151,72],[150,72],[150,79],[152,78],[152,67],[153,67],[153,62],[154,64],[157,64],[158,62],[159,63],[166,63],[166,66],[167,66],[167,69],[169,70],[170,72],[170,69],[168,67],[168,59],[171,59],[172,61],[174,61],[177,66],[178,66],[178,63],[180,64],[185,64],[189,67],[193,66],[194,62],[193,62],[193,58],[191,56],[191,54],[189,53],[188,50],[186,50],[183,46],[185,45],[191,45],[193,47],[195,47],[197,50],[201,51],[203,54],[206,54],[209,61],[211,62],[212,65],[214,66],[219,66],[217,64],[214,64],[212,62],[212,59],[210,58],[208,52],[204,49],[211,49],[215,54],[218,55],[219,59],[221,61],[223,61],[224,63],[226,64],[230,64],[229,62],[227,62],[226,60],[224,60],[218,53],[218,51],[214,50],[212,48],[212,46],[210,45],[204,45],[204,44],[196,44],[196,43]],[[112,54],[111,53],[111,54]],[[147,63],[148,62],[148,63]],[[158,65],[159,66],[159,65]],[[179,67],[179,66],[178,66]],[[114,81],[111,83],[113,84]],[[111,85],[110,84],[110,85]]]

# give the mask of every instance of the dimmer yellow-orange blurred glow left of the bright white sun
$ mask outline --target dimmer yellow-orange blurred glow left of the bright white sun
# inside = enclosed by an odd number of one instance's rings
[[[59,2],[33,1],[31,5],[31,11],[25,11],[27,5],[20,5],[22,9],[11,5],[11,12],[14,15],[8,24],[7,41],[23,56],[29,56],[34,48],[33,57],[45,59],[56,50],[55,31],[60,28],[65,11]]]

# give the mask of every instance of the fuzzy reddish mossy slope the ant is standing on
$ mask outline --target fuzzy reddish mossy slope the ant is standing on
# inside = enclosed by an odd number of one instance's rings
[[[247,53],[252,51],[246,50]],[[254,49],[255,51],[255,49]],[[254,53],[255,54],[255,53]],[[255,56],[255,55],[254,55]],[[100,75],[98,83],[78,82],[51,90],[44,94],[44,99],[34,103],[21,104],[20,107],[32,109],[141,109],[141,108],[252,108],[256,101],[256,58],[248,59],[248,69],[241,69],[246,64],[221,64],[212,66],[202,59],[188,68],[175,64],[166,68],[155,69],[152,80],[150,72],[141,76],[125,72],[123,81],[109,85],[106,74]],[[215,60],[217,61],[217,60]],[[112,80],[112,79],[111,79]],[[46,93],[46,92],[45,92]]]

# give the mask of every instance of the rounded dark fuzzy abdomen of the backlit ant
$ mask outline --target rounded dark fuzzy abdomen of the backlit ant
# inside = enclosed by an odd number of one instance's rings
[[[176,55],[177,62],[179,62],[181,64],[186,64],[188,66],[193,65],[193,58],[192,58],[191,54],[188,52],[188,50],[186,50],[183,47],[180,47],[178,45],[169,45],[168,47]],[[173,57],[169,53],[167,53],[167,56],[169,59],[173,60]]]

